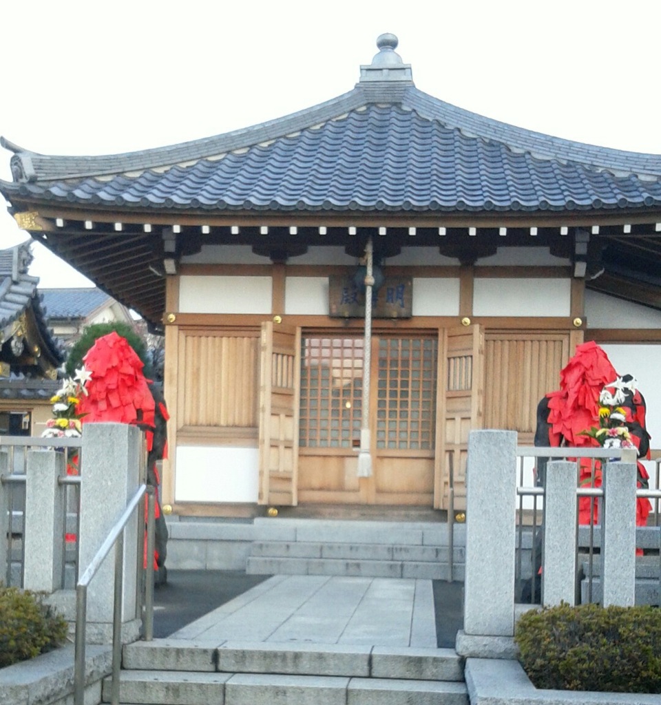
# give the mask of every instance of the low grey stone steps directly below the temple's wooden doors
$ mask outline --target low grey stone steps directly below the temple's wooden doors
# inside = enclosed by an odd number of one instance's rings
[[[428,522],[254,520],[250,575],[449,580],[449,527]],[[465,526],[455,525],[452,580],[464,580]]]

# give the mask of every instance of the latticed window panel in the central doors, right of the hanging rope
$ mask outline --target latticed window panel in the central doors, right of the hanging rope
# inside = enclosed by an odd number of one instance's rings
[[[437,362],[435,339],[379,341],[377,448],[434,447]]]

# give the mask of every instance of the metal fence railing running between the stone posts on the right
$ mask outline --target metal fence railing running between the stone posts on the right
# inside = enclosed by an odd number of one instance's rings
[[[517,496],[518,503],[518,524],[517,524],[517,560],[515,564],[515,594],[517,601],[521,599],[521,586],[524,579],[523,561],[524,550],[527,546],[527,538],[530,538],[530,562],[531,562],[531,601],[536,602],[539,597],[536,594],[536,568],[541,565],[541,537],[543,532],[543,508],[540,506],[540,499],[543,500],[545,495],[545,478],[543,473],[541,477],[536,475],[536,485],[531,486],[524,484],[524,460],[526,458],[534,458],[538,460],[576,460],[576,477],[578,482],[580,463],[583,459],[589,459],[593,465],[595,460],[600,460],[603,463],[603,472],[607,472],[608,460],[617,460],[617,462],[628,462],[623,458],[626,454],[626,449],[623,448],[540,448],[536,446],[519,446],[517,447]],[[629,450],[631,453],[631,450]],[[626,457],[626,456],[625,456]],[[653,510],[655,515],[655,526],[660,525],[660,505],[661,505],[661,457],[655,458],[655,470],[653,472],[655,489],[636,490],[636,498],[647,498],[653,501]],[[537,468],[536,468],[537,469]],[[594,476],[593,476],[594,477]],[[595,486],[594,479],[589,486],[576,487],[577,498],[590,498],[590,515],[591,521],[585,526],[586,532],[578,532],[576,534],[576,562],[579,562],[579,552],[583,551],[585,556],[587,570],[587,599],[588,602],[593,601],[593,578],[594,578],[594,562],[595,562],[595,505],[603,498],[603,489],[600,486]],[[524,508],[524,498],[530,498],[532,507]],[[527,513],[527,514],[526,514]],[[578,503],[576,508],[576,520],[578,521]],[[586,535],[586,539],[582,536]],[[661,599],[661,545],[656,547],[659,551],[659,570],[660,570],[660,585],[659,595]],[[654,550],[654,549],[653,549]]]

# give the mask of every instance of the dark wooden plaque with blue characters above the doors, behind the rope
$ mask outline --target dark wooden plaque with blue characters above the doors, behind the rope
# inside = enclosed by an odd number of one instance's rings
[[[365,290],[354,276],[328,277],[328,311],[333,318],[364,318]],[[372,290],[373,318],[411,318],[413,279],[410,276],[386,276],[383,284]]]

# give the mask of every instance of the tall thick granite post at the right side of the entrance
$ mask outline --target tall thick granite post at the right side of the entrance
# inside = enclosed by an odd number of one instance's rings
[[[516,431],[471,431],[466,471],[464,633],[514,634]]]

